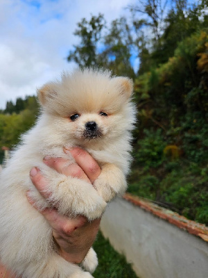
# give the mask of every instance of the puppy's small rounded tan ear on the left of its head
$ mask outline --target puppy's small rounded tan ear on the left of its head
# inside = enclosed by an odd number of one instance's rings
[[[46,106],[49,101],[57,97],[57,92],[54,83],[47,83],[40,89],[37,89],[37,97],[42,106]]]

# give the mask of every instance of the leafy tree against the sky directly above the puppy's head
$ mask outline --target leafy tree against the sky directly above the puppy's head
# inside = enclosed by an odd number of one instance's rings
[[[84,18],[77,25],[74,35],[80,38],[80,44],[73,46],[68,61],[73,60],[79,67],[104,67],[114,74],[135,77],[130,64],[132,37],[125,17],[112,21],[110,29],[106,29],[101,14],[89,21]]]

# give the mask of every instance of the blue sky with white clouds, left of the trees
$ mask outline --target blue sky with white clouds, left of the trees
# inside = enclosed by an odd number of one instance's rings
[[[76,65],[67,62],[83,17],[103,13],[107,23],[135,0],[0,0],[0,109],[6,101],[35,95]]]

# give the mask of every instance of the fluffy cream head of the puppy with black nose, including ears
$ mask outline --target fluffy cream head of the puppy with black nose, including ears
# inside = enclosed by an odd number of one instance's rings
[[[78,145],[112,140],[129,129],[131,94],[130,79],[94,70],[62,76],[61,82],[48,83],[38,91],[53,130]]]

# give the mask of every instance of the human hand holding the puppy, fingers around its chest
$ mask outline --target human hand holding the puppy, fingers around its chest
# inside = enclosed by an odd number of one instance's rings
[[[93,184],[101,173],[101,168],[94,158],[85,150],[77,147],[70,150],[64,149],[64,152],[70,152],[77,164],[69,165],[64,158],[51,157],[45,157],[44,163],[60,174],[84,179]],[[44,190],[47,186],[47,181],[38,168],[31,170],[31,181],[44,198],[49,197],[49,193]],[[32,199],[28,197],[28,200],[34,205]],[[44,215],[44,218],[52,227],[53,238],[58,246],[60,255],[71,263],[83,261],[96,238],[101,219],[88,222],[87,218],[82,215],[69,219],[64,215],[58,214],[55,208],[46,208],[40,213]]]

